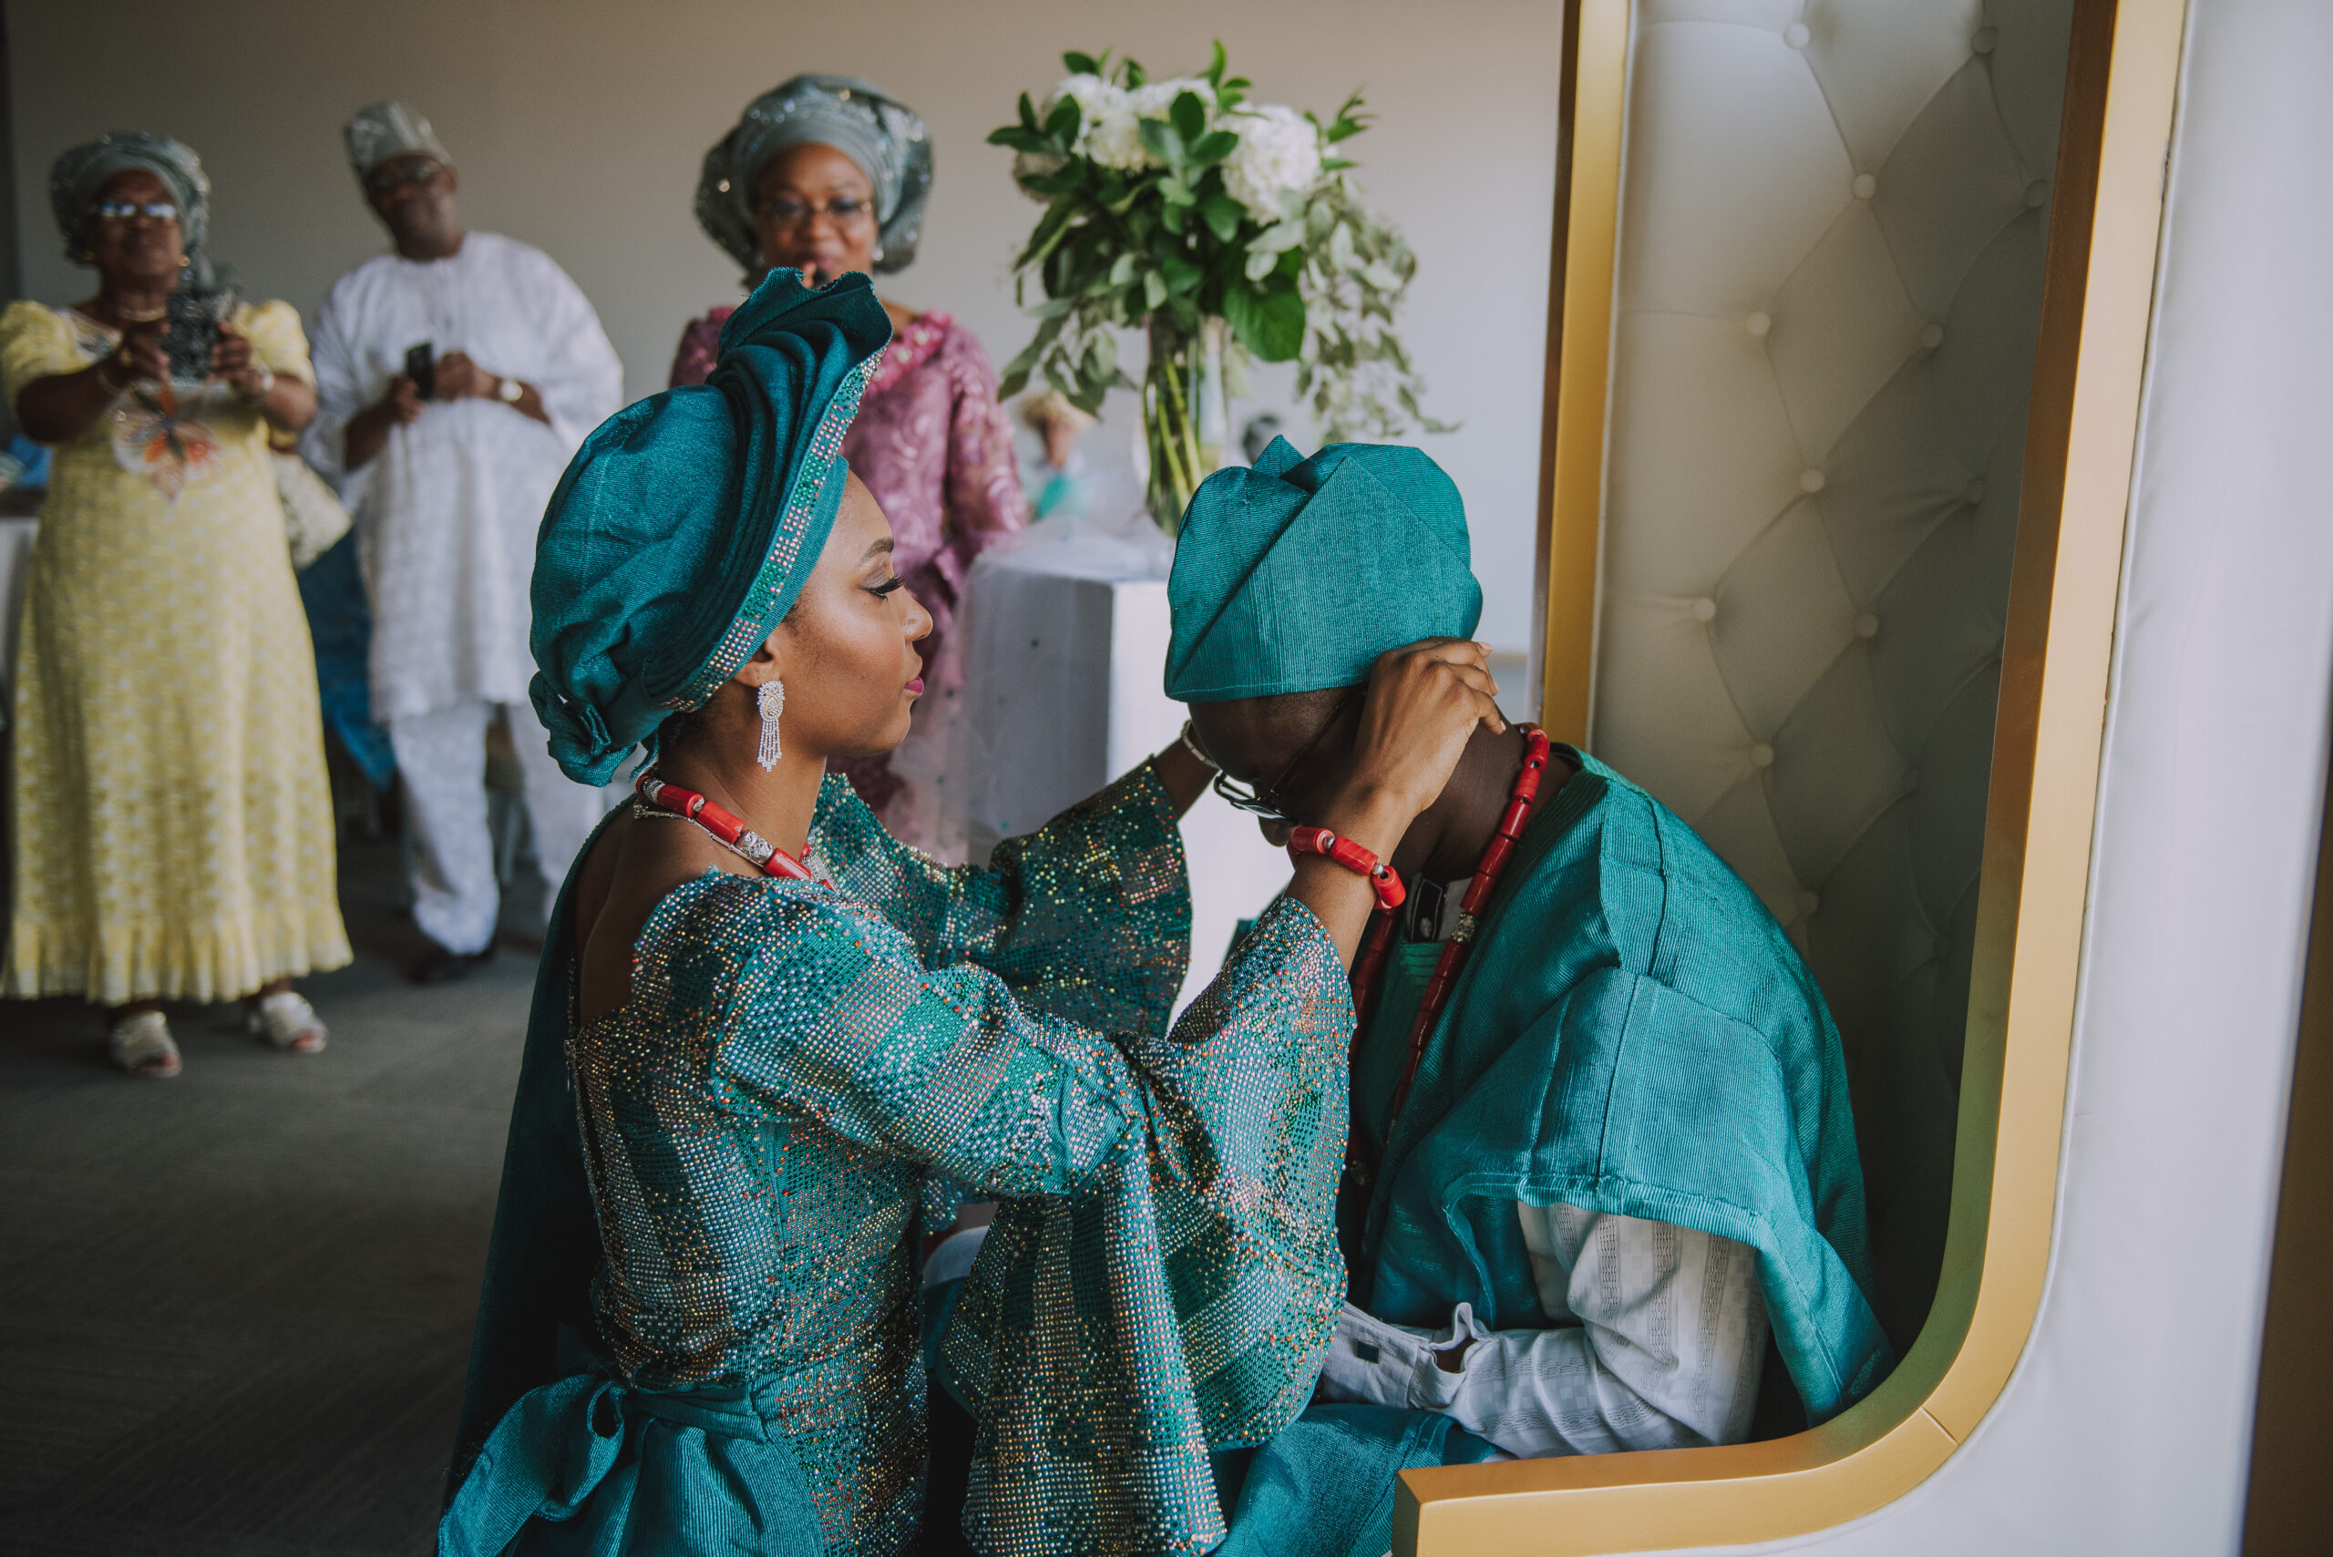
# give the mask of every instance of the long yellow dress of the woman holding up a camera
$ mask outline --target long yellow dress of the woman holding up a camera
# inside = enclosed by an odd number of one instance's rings
[[[313,378],[287,303],[236,326]],[[119,336],[9,303],[0,389]],[[266,424],[135,385],[58,445],[19,627],[9,995],[229,1000],[348,963],[315,655]]]

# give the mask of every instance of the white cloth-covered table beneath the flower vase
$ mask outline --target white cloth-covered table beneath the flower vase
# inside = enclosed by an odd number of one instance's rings
[[[992,550],[966,587],[964,718],[954,769],[971,858],[1045,825],[1183,727],[1169,702],[1166,569],[1155,529],[1038,524]],[[1183,818],[1190,855],[1187,1005],[1222,967],[1232,930],[1288,886],[1288,855],[1255,818],[1206,792]]]

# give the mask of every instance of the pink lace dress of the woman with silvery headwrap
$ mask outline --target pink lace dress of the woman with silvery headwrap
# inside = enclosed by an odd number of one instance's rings
[[[702,385],[730,308],[714,308],[681,331],[672,385]],[[961,818],[945,804],[947,753],[964,690],[964,655],[952,627],[973,562],[1001,536],[1029,522],[1013,424],[996,403],[987,352],[952,315],[917,315],[884,350],[882,368],[859,401],[842,457],[868,485],[891,534],[896,566],[931,611],[924,653],[924,699],[915,732],[896,753],[838,767],[884,825],[926,853],[961,853]]]

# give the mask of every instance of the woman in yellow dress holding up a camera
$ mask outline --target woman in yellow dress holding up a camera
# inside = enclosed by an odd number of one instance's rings
[[[210,184],[163,135],[56,158],[72,308],[0,315],[0,392],[56,448],[19,629],[9,995],[110,1007],[112,1058],[170,1077],[163,1000],[243,998],[257,1037],[324,1047],[292,977],[350,960],[315,657],[271,429],[315,415],[285,303],[238,305],[210,373],[170,378],[168,296]]]

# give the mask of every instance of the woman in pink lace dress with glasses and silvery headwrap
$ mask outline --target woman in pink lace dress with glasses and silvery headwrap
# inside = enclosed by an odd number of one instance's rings
[[[705,154],[698,221],[747,273],[791,266],[819,287],[847,270],[891,273],[915,259],[931,191],[924,121],[856,77],[798,75],[754,98]],[[894,566],[931,611],[924,704],[915,734],[884,758],[842,767],[884,825],[931,853],[961,851],[943,790],[964,688],[950,627],[973,559],[1029,522],[1013,424],[996,406],[996,371],[945,312],[884,301],[891,347],[868,382],[842,455],[882,501],[898,536]],[[674,385],[714,368],[730,308],[681,331]]]

